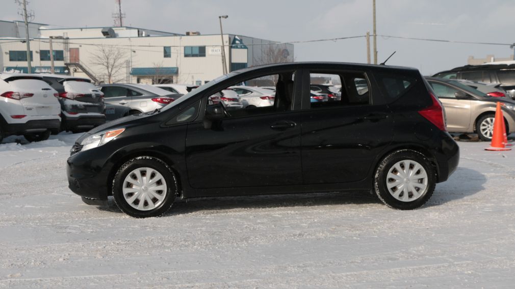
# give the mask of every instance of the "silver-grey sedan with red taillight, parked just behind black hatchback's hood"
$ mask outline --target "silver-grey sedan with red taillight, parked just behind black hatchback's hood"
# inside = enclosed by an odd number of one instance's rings
[[[104,93],[107,120],[151,112],[182,96],[148,84],[102,84],[98,88]]]

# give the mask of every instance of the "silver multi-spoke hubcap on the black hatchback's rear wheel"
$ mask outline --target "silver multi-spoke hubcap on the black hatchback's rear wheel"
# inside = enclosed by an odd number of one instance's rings
[[[386,187],[399,201],[415,201],[427,190],[427,173],[418,162],[401,160],[388,171]]]

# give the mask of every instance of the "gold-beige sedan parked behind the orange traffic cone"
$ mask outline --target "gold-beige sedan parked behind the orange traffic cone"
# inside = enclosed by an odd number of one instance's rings
[[[497,101],[501,102],[506,132],[515,132],[515,102],[488,96],[456,80],[425,78],[445,107],[447,130],[456,133],[477,133],[490,141]]]

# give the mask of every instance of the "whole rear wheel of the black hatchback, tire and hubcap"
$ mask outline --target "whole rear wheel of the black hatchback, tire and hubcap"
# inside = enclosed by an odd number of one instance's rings
[[[435,170],[424,155],[400,150],[386,156],[374,175],[374,190],[387,206],[411,210],[424,205],[436,186]]]

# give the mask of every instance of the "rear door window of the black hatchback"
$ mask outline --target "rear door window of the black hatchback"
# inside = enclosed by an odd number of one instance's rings
[[[369,86],[364,73],[310,71],[310,81],[310,104],[313,109],[370,104]]]

